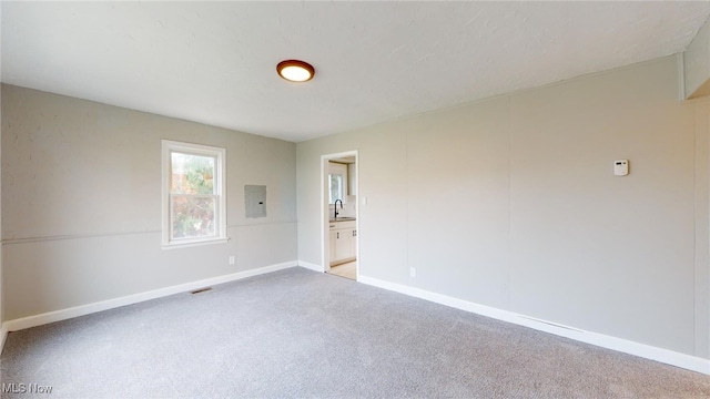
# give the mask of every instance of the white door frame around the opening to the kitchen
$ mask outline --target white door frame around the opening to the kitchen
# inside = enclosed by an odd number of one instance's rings
[[[328,161],[341,158],[344,156],[355,156],[355,192],[359,198],[359,154],[358,150],[344,151],[333,154],[321,155],[321,264],[323,265],[323,272],[331,270],[331,247],[329,247],[329,181],[328,181]],[[349,180],[349,176],[348,176]],[[355,276],[359,279],[359,200],[355,201],[355,228],[357,235],[355,236]]]

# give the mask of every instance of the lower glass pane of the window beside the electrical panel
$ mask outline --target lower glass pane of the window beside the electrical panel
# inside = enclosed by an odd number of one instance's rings
[[[173,195],[173,238],[199,238],[215,235],[214,196]]]

